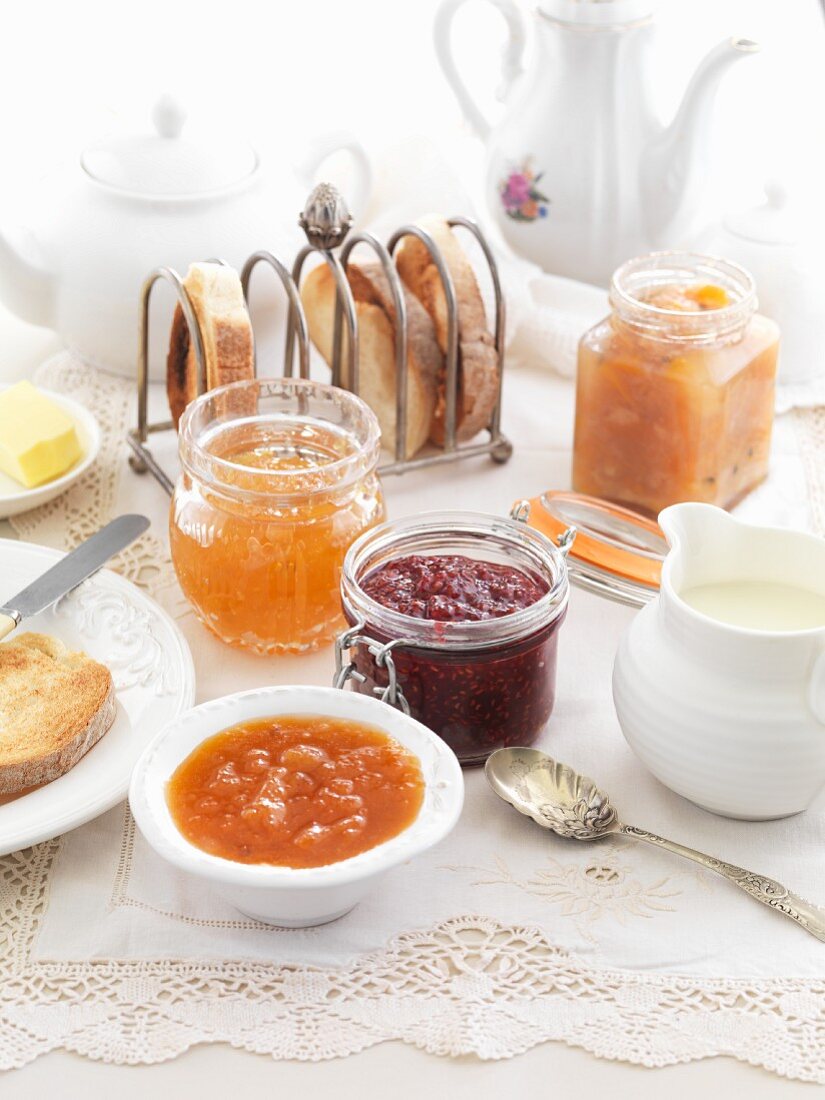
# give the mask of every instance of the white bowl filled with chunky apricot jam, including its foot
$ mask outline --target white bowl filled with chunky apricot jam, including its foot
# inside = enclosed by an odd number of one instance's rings
[[[421,723],[310,686],[187,711],[146,748],[129,792],[158,856],[284,927],[343,916],[443,839],[463,800],[454,752]]]

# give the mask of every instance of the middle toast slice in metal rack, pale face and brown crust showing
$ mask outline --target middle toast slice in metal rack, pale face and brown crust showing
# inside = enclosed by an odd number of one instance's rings
[[[396,312],[386,275],[378,263],[349,264],[359,326],[360,393],[381,425],[384,446],[396,444]],[[336,283],[327,264],[314,268],[301,287],[309,333],[327,360],[332,360]],[[407,446],[410,459],[427,442],[443,374],[444,356],[432,321],[421,304],[405,292],[407,307]],[[344,352],[346,344],[344,344]],[[348,360],[344,359],[344,363]]]

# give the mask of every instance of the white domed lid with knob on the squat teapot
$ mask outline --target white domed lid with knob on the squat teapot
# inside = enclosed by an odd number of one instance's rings
[[[254,148],[233,135],[184,135],[186,111],[170,96],[157,100],[152,122],[154,133],[89,145],[80,155],[84,170],[120,191],[183,198],[224,190],[257,168]]]

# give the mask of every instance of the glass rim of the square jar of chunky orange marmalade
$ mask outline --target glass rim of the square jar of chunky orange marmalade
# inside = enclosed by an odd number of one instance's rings
[[[721,285],[730,296],[717,309],[668,309],[639,297],[642,289],[704,282]],[[732,260],[701,252],[650,252],[617,267],[609,288],[610,305],[623,321],[639,331],[702,340],[741,329],[758,307],[752,275]]]

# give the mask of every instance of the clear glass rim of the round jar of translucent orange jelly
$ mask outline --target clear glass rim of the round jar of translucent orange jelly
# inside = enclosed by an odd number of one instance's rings
[[[271,392],[264,394],[267,388]],[[364,425],[363,438],[356,439],[359,446],[351,454],[344,454],[340,459],[315,468],[311,471],[311,485],[308,484],[310,471],[306,469],[266,470],[223,459],[213,454],[208,446],[204,444],[202,436],[210,437],[211,432],[208,430],[199,432],[196,428],[197,418],[210,402],[219,405],[221,400],[229,399],[231,403],[233,396],[241,396],[244,393],[271,397],[283,395],[290,398],[304,396],[306,398],[329,399],[339,407],[358,414]],[[296,411],[294,415],[301,414]],[[230,416],[226,422],[233,420],[239,424],[243,420],[254,422],[265,418],[265,414],[254,413],[249,416]],[[314,417],[311,414],[308,419],[315,419],[319,424],[329,422],[321,417]],[[216,424],[219,422],[216,421]],[[354,433],[350,429],[345,430],[354,438]],[[180,418],[178,450],[182,465],[189,474],[198,479],[209,477],[231,491],[233,496],[241,498],[272,496],[273,498],[288,499],[293,496],[315,496],[330,490],[345,488],[366,472],[373,470],[377,465],[381,451],[381,428],[378,419],[370,406],[363,398],[348,389],[324,382],[315,382],[310,378],[252,378],[218,386],[190,402]],[[254,482],[254,486],[239,484],[239,479]]]

